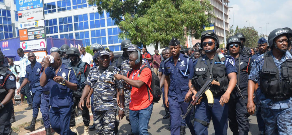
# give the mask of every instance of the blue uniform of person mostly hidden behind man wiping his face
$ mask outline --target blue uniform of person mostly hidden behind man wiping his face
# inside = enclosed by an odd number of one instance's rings
[[[41,72],[41,75],[44,72]],[[40,75],[40,77],[41,77]],[[50,104],[49,104],[49,94],[50,94],[50,90],[48,88],[48,86],[44,86],[42,87],[43,89],[43,94],[41,94],[41,116],[43,117],[43,121],[44,121],[44,127],[45,128],[50,128],[51,127],[51,123],[50,123],[50,118],[49,118],[49,110],[50,110]]]

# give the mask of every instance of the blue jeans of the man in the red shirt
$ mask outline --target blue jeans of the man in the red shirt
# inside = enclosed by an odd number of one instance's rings
[[[130,123],[135,135],[148,135],[148,124],[151,117],[153,104],[142,110],[130,110]]]

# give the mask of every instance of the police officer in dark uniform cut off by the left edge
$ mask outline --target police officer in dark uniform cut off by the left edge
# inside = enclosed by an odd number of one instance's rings
[[[13,73],[4,65],[2,61],[4,55],[0,51],[0,134],[8,135],[11,134],[11,112],[12,112],[12,98],[15,95],[15,76]]]

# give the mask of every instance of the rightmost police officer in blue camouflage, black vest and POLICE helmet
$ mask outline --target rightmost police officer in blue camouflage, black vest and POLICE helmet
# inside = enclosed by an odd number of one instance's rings
[[[272,51],[256,59],[248,78],[247,110],[254,114],[253,93],[258,83],[254,100],[261,107],[266,134],[292,134],[292,56],[287,51],[289,34],[284,29],[275,29],[269,34],[268,42]]]

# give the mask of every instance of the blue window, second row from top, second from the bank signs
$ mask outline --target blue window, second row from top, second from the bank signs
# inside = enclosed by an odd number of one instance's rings
[[[59,32],[73,31],[72,16],[59,18]]]

